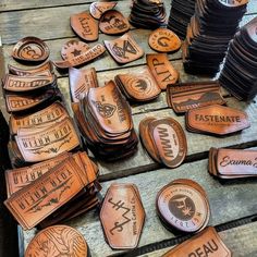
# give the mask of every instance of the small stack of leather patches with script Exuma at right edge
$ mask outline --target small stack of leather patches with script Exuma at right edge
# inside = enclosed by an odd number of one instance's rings
[[[257,176],[257,151],[211,147],[208,170],[222,180]]]

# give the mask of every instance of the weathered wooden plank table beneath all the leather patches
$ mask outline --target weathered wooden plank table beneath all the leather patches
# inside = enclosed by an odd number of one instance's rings
[[[89,0],[1,0],[0,34],[2,37],[5,65],[10,63],[21,66],[10,58],[10,53],[13,45],[20,38],[29,35],[44,39],[50,48],[50,59],[60,60],[62,45],[72,38],[76,38],[70,27],[70,15],[88,10],[90,2]],[[169,0],[166,1],[166,7],[169,13]],[[117,9],[127,16],[130,13],[128,1],[119,1]],[[248,3],[248,11],[241,25],[252,20],[256,15],[255,13],[257,13],[257,1],[252,0]],[[152,52],[147,42],[150,30],[132,28],[131,34],[144,48],[145,53]],[[113,37],[100,34],[98,41],[102,42],[103,39],[110,38]],[[207,79],[206,77],[197,77],[184,72],[181,51],[169,54],[169,59],[180,71],[181,82]],[[146,59],[144,57],[121,66],[106,52],[103,57],[85,66],[95,66],[99,83],[103,85],[105,81],[113,79],[114,75],[137,71],[145,64]],[[69,99],[68,74],[56,73],[59,77],[58,85],[64,94],[65,99]],[[247,180],[221,183],[211,178],[207,172],[208,150],[211,146],[257,149],[257,103],[256,101],[249,103],[238,102],[227,91],[223,90],[222,94],[228,100],[229,107],[245,110],[248,113],[250,120],[249,128],[223,138],[186,132],[188,143],[186,161],[173,170],[164,169],[154,162],[140,144],[137,154],[128,159],[112,163],[98,162],[100,181],[103,187],[102,195],[105,195],[107,188],[113,182],[135,183],[140,192],[146,210],[146,222],[138,249],[132,252],[131,256],[160,256],[169,247],[179,243],[180,240],[184,240],[184,237],[178,238],[174,234],[167,231],[160,223],[155,210],[157,192],[168,182],[179,178],[193,179],[207,191],[211,207],[211,220],[209,224],[222,231],[220,235],[234,253],[234,256],[257,256],[257,222],[254,219],[255,216],[257,217],[257,182]],[[68,103],[70,103],[70,99]],[[2,97],[1,109],[5,109]],[[167,107],[166,93],[162,93],[152,102],[133,106],[132,112],[136,131],[138,131],[139,121],[148,115],[172,117],[185,128],[184,117],[176,117]],[[105,242],[96,210],[73,219],[69,224],[83,233],[89,244],[93,256],[102,257],[121,254],[120,252],[112,250]],[[35,230],[32,230],[23,233],[25,247],[35,232]]]

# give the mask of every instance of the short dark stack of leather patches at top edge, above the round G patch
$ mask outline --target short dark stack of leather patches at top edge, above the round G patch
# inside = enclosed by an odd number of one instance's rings
[[[164,26],[167,14],[162,0],[133,0],[130,23],[135,27],[157,28]]]

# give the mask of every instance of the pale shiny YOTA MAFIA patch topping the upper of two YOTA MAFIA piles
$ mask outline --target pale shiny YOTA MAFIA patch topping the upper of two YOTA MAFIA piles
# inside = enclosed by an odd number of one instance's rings
[[[19,149],[27,162],[48,160],[79,146],[79,138],[69,118],[38,133],[34,131],[15,136]]]

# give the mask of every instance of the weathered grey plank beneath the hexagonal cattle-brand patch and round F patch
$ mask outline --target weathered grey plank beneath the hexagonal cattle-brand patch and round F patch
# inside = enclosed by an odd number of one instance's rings
[[[175,170],[160,169],[144,174],[127,176],[115,182],[134,183],[140,192],[143,205],[146,210],[146,222],[139,246],[174,237],[172,232],[166,230],[158,219],[155,200],[158,191],[162,186],[170,181],[182,178],[192,179],[206,189],[211,208],[210,225],[225,223],[257,213],[257,181],[237,181],[237,183],[221,184],[208,174],[206,159],[183,164]],[[101,183],[103,195],[112,182]],[[117,253],[111,250],[106,244],[96,212],[74,219],[69,224],[83,233],[89,244],[93,256],[108,256]],[[25,244],[32,240],[34,232],[24,233]]]

